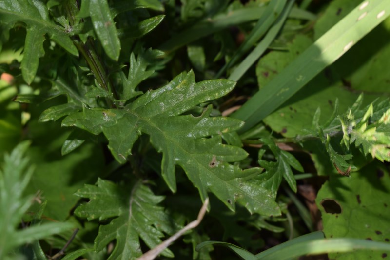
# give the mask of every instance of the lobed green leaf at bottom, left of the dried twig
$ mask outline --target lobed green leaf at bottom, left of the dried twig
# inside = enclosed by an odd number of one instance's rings
[[[101,251],[112,240],[116,246],[108,260],[136,259],[142,255],[139,238],[150,248],[156,247],[164,237],[163,232],[173,234],[178,228],[157,204],[164,200],[156,196],[145,185],[137,182],[129,187],[98,179],[97,186],[85,185],[76,195],[90,201],[80,205],[75,214],[88,220],[106,220],[113,218],[109,224],[101,225],[95,239],[95,249]],[[166,249],[163,256],[173,257]]]

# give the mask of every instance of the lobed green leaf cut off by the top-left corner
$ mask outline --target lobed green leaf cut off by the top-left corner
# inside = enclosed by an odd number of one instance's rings
[[[63,28],[49,19],[47,7],[43,2],[0,0],[0,16],[0,22],[7,25],[7,30],[19,21],[25,22],[27,25],[21,67],[23,79],[29,84],[37,73],[39,57],[44,54],[45,34],[69,53],[78,55],[77,48],[66,32],[67,28]]]

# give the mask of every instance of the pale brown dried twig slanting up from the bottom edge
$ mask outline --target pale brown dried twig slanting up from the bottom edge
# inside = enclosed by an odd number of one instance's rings
[[[177,240],[179,237],[181,237],[185,232],[187,232],[190,229],[193,229],[197,227],[200,222],[202,221],[204,214],[206,213],[207,206],[209,205],[209,198],[207,198],[202,208],[199,211],[198,217],[196,220],[192,221],[182,229],[180,229],[175,235],[170,237],[169,239],[165,240],[161,244],[157,245],[155,248],[149,250],[145,254],[143,254],[141,257],[138,258],[138,260],[153,260],[155,259],[162,251],[165,250],[170,244],[172,244],[175,240]]]

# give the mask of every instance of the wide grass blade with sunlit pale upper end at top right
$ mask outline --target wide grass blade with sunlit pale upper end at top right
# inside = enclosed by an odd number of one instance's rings
[[[232,114],[232,117],[245,121],[241,131],[248,130],[272,113],[385,20],[389,13],[390,5],[386,0],[365,1],[357,6]]]

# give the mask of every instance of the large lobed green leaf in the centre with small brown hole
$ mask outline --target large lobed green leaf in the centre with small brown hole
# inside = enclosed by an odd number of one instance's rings
[[[246,181],[257,175],[259,169],[242,171],[229,163],[243,160],[247,153],[222,144],[220,135],[238,129],[242,122],[210,117],[211,107],[199,117],[180,115],[199,103],[225,95],[234,85],[230,80],[195,83],[190,71],[164,87],[148,91],[125,109],[84,108],[82,113],[66,117],[62,125],[77,126],[93,134],[103,132],[112,154],[122,163],[131,154],[138,136],[145,133],[156,150],[162,152],[162,177],[172,191],[176,191],[175,165],[179,165],[203,201],[207,191],[211,191],[231,210],[237,201],[252,213],[277,216],[280,209],[269,191]]]

